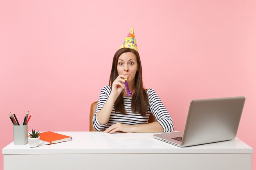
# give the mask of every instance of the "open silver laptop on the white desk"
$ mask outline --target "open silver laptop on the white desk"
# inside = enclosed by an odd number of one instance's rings
[[[179,147],[234,139],[245,104],[245,96],[191,100],[183,132],[153,135]]]

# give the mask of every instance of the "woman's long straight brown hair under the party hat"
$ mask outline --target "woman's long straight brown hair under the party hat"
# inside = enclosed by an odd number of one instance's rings
[[[110,88],[112,88],[113,82],[118,77],[117,62],[118,62],[119,56],[122,53],[127,53],[127,52],[132,52],[133,54],[135,54],[137,64],[138,64],[138,71],[135,75],[135,93],[132,95],[131,108],[133,112],[139,113],[141,116],[146,116],[146,112],[148,108],[148,95],[146,93],[146,89],[144,89],[143,87],[141,62],[140,62],[139,53],[136,50],[129,49],[129,48],[121,48],[117,50],[117,52],[113,57],[112,69],[111,69],[110,78],[109,78],[109,85],[110,85]],[[114,103],[114,106],[115,106],[115,112],[126,114],[126,110],[124,109],[124,99],[122,95],[123,93],[121,93],[117,97]]]

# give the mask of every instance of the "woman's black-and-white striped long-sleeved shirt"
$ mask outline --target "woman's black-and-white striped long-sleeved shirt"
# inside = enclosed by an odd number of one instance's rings
[[[152,88],[149,88],[147,90],[149,106],[145,117],[141,116],[138,113],[134,113],[131,109],[132,97],[124,96],[124,108],[127,113],[115,113],[115,107],[113,106],[108,123],[101,125],[97,119],[97,113],[99,113],[99,111],[106,104],[108,97],[110,96],[110,93],[110,86],[103,86],[99,95],[97,108],[92,118],[92,124],[94,129],[98,131],[103,130],[104,128],[107,129],[109,126],[116,124],[117,122],[127,125],[147,124],[148,117],[151,112],[155,116],[155,119],[163,127],[163,132],[173,131],[173,120],[168,111],[166,110],[166,108],[164,107],[164,104],[162,103],[161,99],[158,97],[157,93]]]

